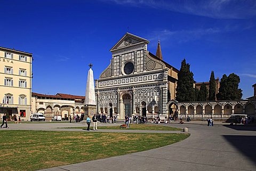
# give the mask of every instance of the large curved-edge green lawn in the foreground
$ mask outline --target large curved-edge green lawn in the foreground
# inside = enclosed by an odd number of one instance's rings
[[[1,131],[0,170],[36,170],[158,148],[189,134]]]

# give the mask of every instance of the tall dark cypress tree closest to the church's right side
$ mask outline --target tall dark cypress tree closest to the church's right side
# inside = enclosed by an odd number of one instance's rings
[[[190,64],[183,59],[180,72],[178,74],[178,83],[176,88],[176,100],[178,102],[195,101],[194,74],[190,71]]]

